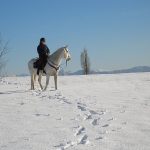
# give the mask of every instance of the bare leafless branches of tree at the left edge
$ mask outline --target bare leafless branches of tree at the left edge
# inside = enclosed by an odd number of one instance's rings
[[[0,36],[0,74],[6,65],[5,55],[8,53],[8,42],[4,43]]]

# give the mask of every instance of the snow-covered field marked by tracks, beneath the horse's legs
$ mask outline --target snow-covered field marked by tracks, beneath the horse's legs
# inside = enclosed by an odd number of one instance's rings
[[[150,150],[150,73],[58,80],[0,81],[0,150]]]

